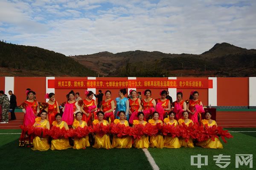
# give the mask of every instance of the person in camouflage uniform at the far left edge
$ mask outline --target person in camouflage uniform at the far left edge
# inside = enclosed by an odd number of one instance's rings
[[[8,96],[4,94],[3,91],[0,91],[0,105],[2,106],[2,122],[0,123],[8,123],[8,112],[10,109],[10,102]]]

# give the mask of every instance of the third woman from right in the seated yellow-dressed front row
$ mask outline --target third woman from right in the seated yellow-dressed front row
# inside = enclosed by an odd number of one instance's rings
[[[178,122],[177,120],[174,119],[175,117],[175,113],[174,112],[169,112],[169,118],[166,117],[163,122],[166,124],[166,125],[175,125],[177,126],[178,125]],[[172,137],[172,136],[164,136],[164,147],[167,147],[167,148],[180,148],[180,141],[179,141],[179,138],[178,137]]]

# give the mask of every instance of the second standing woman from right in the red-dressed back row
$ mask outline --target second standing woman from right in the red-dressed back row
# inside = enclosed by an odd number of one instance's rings
[[[177,100],[172,103],[172,106],[174,106],[172,111],[175,113],[176,120],[182,119],[183,111],[186,111],[186,102],[183,101],[182,97],[182,91],[178,91]]]

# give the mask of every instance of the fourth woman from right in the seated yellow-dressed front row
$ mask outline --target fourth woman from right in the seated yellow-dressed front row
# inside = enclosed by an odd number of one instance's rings
[[[159,120],[159,114],[157,112],[153,113],[153,119],[149,119],[148,123],[151,123],[152,125],[157,125],[157,123],[161,123],[161,125],[163,125],[163,122]],[[162,135],[158,134],[157,136],[150,136],[149,147],[157,147],[162,149],[163,146],[164,139]]]

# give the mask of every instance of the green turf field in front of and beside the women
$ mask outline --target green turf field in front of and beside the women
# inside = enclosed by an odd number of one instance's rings
[[[256,128],[230,128],[230,131],[256,131]],[[0,133],[20,133],[21,130],[0,130]],[[253,154],[256,156],[256,132],[231,133],[234,138],[224,144],[224,149],[180,148],[157,149],[149,148],[160,170],[192,170],[197,166],[190,165],[190,156],[208,156],[208,166],[201,169],[217,170],[213,156],[223,154],[231,156],[231,163],[226,169],[235,168],[236,154]],[[0,160],[3,169],[50,170],[50,169],[94,169],[94,170],[152,170],[143,150],[141,149],[94,149],[85,150],[47,150],[33,151],[30,148],[18,147],[20,134],[0,134]],[[255,165],[256,166],[256,165]],[[249,165],[238,169],[250,169]]]

